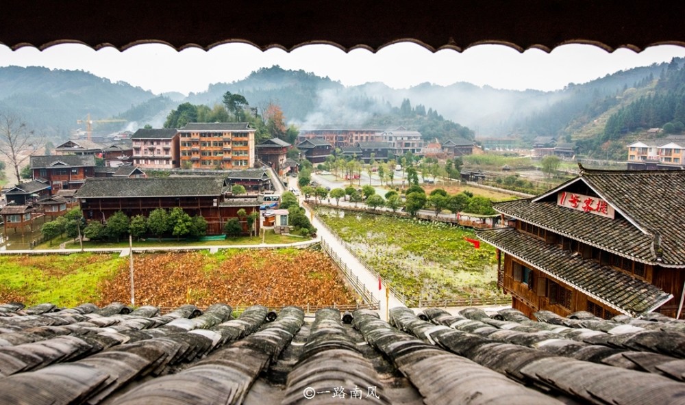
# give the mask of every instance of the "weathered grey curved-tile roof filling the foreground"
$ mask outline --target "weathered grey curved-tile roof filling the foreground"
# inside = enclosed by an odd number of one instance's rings
[[[0,305],[3,404],[675,404],[682,322]],[[601,378],[597,378],[601,376]]]

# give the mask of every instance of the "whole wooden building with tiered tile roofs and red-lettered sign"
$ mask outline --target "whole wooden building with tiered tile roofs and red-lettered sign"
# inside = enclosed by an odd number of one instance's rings
[[[609,171],[499,202],[507,228],[478,233],[498,250],[498,285],[528,316],[683,317],[685,171]],[[675,298],[674,298],[675,297]]]

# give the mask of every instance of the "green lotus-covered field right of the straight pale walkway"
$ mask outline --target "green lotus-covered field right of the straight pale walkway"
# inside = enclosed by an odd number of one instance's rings
[[[475,233],[439,222],[317,211],[353,252],[416,304],[450,298],[492,298],[497,292],[495,248],[475,249]]]

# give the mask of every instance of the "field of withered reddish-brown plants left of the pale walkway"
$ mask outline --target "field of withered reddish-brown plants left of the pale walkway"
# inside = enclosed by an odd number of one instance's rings
[[[136,305],[353,304],[334,263],[310,250],[144,254],[135,258]],[[101,280],[101,301],[129,302],[128,266]]]

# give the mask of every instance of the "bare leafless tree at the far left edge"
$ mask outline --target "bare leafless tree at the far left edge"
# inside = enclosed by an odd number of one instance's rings
[[[19,116],[0,112],[0,153],[14,170],[17,184],[21,183],[19,168],[43,144]]]

